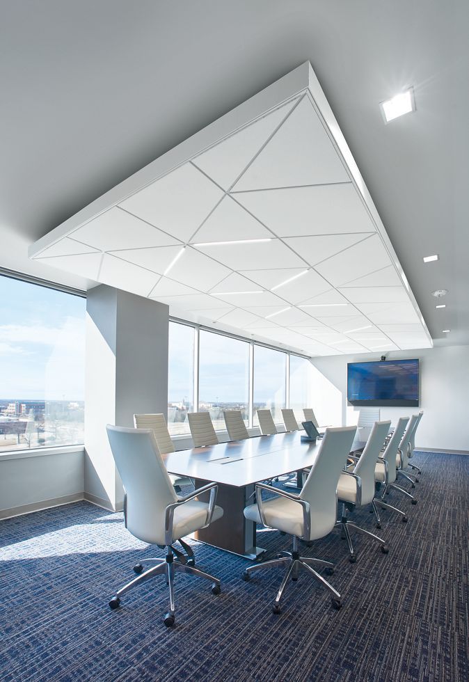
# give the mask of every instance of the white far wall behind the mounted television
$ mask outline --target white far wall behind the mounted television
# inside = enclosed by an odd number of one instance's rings
[[[420,407],[388,407],[381,418],[397,422],[419,409],[424,416],[417,431],[417,447],[469,451],[469,346],[445,346],[420,351],[395,351],[388,360],[419,358]],[[379,355],[313,358],[313,408],[321,425],[356,423],[359,408],[347,404],[347,363],[379,360]]]

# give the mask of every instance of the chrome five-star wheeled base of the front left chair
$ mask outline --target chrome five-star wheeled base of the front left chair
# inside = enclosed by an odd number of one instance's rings
[[[212,582],[212,594],[220,594],[221,587],[220,580],[218,580],[218,578],[210,576],[209,573],[205,573],[205,571],[196,569],[195,566],[193,566],[193,558],[191,558],[192,563],[189,565],[181,553],[177,552],[177,556],[182,557],[181,561],[178,561],[174,558],[174,553],[175,548],[168,546],[166,548],[166,557],[164,559],[156,557],[149,557],[148,559],[145,559],[145,564],[155,564],[146,571],[144,570],[143,564],[135,564],[134,571],[139,575],[134,578],[134,580],[127,582],[127,585],[124,585],[124,587],[118,589],[116,595],[113,596],[109,602],[111,609],[119,608],[120,597],[126,592],[129,592],[129,589],[132,589],[132,587],[140,585],[141,582],[144,582],[153,576],[164,575],[166,577],[166,585],[168,585],[169,588],[169,610],[164,617],[164,624],[167,627],[173,626],[175,624],[174,579],[175,573],[177,571],[180,573],[190,573],[192,576],[198,576],[199,578],[209,580]]]

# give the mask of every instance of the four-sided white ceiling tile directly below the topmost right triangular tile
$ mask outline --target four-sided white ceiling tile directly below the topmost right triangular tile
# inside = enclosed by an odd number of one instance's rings
[[[375,232],[353,184],[322,184],[234,193],[278,237]]]

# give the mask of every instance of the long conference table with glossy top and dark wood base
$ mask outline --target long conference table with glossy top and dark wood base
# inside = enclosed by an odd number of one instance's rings
[[[301,441],[301,432],[294,431],[167,454],[169,473],[196,479],[196,488],[218,483],[216,504],[223,507],[223,516],[194,537],[248,559],[259,557],[265,550],[256,544],[256,525],[244,517],[244,508],[255,500],[255,484],[312,466],[320,443]],[[358,447],[356,436],[353,449]],[[208,494],[200,499],[208,500]]]

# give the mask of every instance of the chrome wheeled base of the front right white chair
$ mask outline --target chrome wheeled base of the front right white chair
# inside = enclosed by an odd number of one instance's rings
[[[292,552],[282,552],[276,559],[272,559],[270,561],[265,561],[262,562],[261,564],[254,564],[253,566],[249,566],[246,571],[244,571],[243,574],[243,580],[249,581],[251,580],[251,575],[255,571],[262,571],[262,569],[271,569],[273,566],[284,566],[287,570],[285,571],[285,575],[283,576],[283,580],[280,583],[280,587],[278,588],[277,596],[275,598],[275,601],[273,602],[272,605],[272,611],[273,613],[279,614],[280,613],[280,599],[283,597],[283,593],[285,592],[285,587],[287,586],[287,582],[289,578],[292,580],[298,580],[299,578],[299,572],[300,569],[308,573],[309,576],[312,576],[312,578],[315,578],[317,582],[320,583],[323,587],[326,587],[328,592],[331,593],[331,603],[335,609],[340,609],[342,606],[342,599],[340,594],[335,590],[332,585],[330,585],[325,578],[323,578],[320,573],[317,573],[315,569],[312,568],[310,565],[319,565],[319,566],[324,566],[326,568],[326,572],[328,575],[332,575],[334,572],[334,564],[332,564],[330,561],[324,561],[322,559],[313,559],[312,557],[301,557],[299,555],[298,551],[298,538],[294,537],[293,538],[293,550]]]

